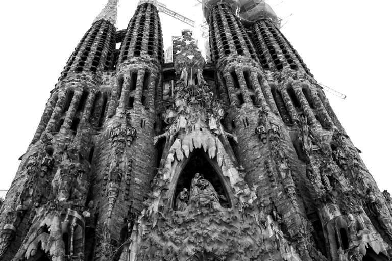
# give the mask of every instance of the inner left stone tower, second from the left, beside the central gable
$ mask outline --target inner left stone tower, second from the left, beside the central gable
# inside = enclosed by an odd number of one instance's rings
[[[92,194],[101,199],[95,260],[119,258],[149,191],[157,156],[155,100],[161,93],[162,43],[156,6],[140,2],[118,50],[108,119],[97,137],[101,160],[94,166]]]

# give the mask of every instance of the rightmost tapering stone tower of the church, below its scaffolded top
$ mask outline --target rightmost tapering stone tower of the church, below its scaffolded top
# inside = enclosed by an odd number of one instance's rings
[[[314,227],[315,246],[331,260],[375,258],[374,253],[381,252],[378,258],[386,258],[391,239],[391,217],[384,201],[388,194],[378,190],[360,151],[297,51],[273,21],[258,19],[249,25],[250,34],[263,69],[271,75],[266,84],[278,108],[275,114],[289,134],[287,144],[291,141],[296,152],[288,159],[297,197],[304,201],[303,214]],[[266,118],[269,113],[263,109],[260,115]],[[268,140],[265,121],[256,133]]]

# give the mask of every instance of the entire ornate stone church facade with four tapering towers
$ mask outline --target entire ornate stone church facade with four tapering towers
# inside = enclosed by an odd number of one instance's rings
[[[20,159],[0,260],[392,256],[389,193],[273,11],[249,2],[203,1],[212,63],[187,30],[164,63],[157,2],[116,31],[109,0]]]

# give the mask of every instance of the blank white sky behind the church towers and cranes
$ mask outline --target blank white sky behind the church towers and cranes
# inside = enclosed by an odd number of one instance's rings
[[[8,189],[38,126],[49,92],[69,56],[107,0],[3,1],[0,16],[0,190]],[[125,29],[137,0],[120,0],[117,28]],[[161,0],[203,22],[195,0]],[[281,0],[271,0],[274,7]],[[283,34],[315,79],[347,95],[326,93],[381,191],[392,190],[390,72],[392,2],[284,0],[274,7]],[[160,14],[164,49],[188,25]],[[193,29],[194,35],[199,29]],[[203,43],[202,43],[203,44]]]

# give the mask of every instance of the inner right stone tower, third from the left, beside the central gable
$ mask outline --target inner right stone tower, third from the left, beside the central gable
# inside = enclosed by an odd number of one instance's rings
[[[261,65],[254,47],[257,44],[235,15],[233,2],[210,1],[204,10],[219,91],[221,97],[228,96],[225,126],[237,137],[234,152],[247,173],[245,180],[270,204],[269,211],[281,213],[287,233],[297,239],[305,208],[296,193],[296,182],[301,182],[299,170],[291,166],[296,153],[268,84],[271,75]],[[268,117],[261,117],[260,108],[269,112]],[[309,259],[311,249],[298,243],[305,249],[301,258]]]

